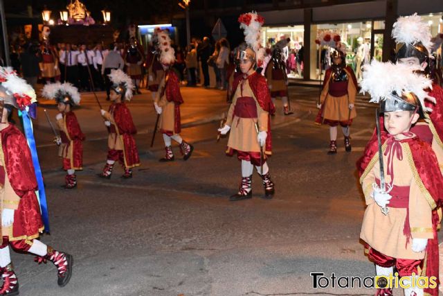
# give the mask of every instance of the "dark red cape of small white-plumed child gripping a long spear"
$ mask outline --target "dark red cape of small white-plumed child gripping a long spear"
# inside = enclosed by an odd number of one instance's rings
[[[125,152],[125,162],[127,167],[132,168],[140,165],[136,140],[133,134],[137,133],[131,112],[125,103],[116,103],[109,106],[109,112],[114,109],[114,121],[118,128],[118,133],[123,136],[123,147]]]

